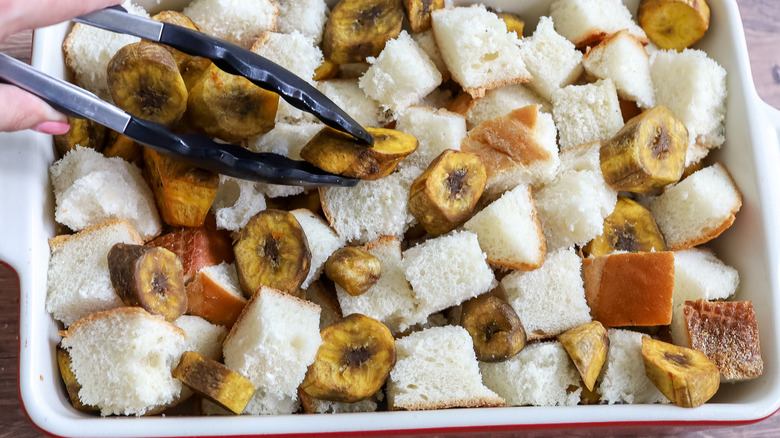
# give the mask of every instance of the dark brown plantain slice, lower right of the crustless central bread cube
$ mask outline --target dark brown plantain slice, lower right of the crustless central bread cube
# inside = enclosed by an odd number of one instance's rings
[[[520,317],[496,296],[481,295],[463,303],[460,325],[471,335],[474,353],[482,362],[502,362],[525,348]]]

